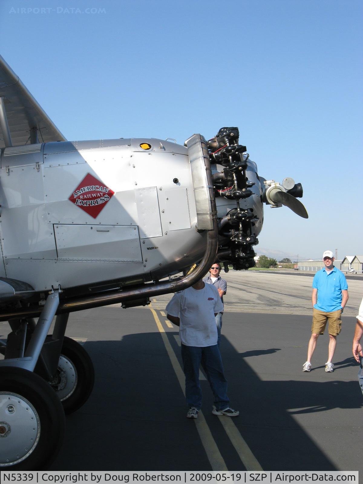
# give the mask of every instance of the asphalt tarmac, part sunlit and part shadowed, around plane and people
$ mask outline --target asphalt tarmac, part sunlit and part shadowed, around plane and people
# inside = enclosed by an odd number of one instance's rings
[[[67,416],[65,441],[50,470],[363,471],[363,395],[351,354],[362,281],[348,282],[347,313],[353,314],[343,316],[334,372],[324,371],[326,333],[312,371],[303,373],[310,278],[283,276],[282,287],[278,275],[243,274],[226,274],[221,341],[231,407],[240,416],[212,415],[212,393],[202,377],[202,412],[196,421],[186,418],[178,331],[168,327],[164,312],[170,296],[146,308],[73,313],[67,335],[91,355],[95,386],[86,404]],[[276,300],[281,304],[269,313]],[[305,305],[306,314],[288,314]],[[0,323],[0,337],[6,333]]]

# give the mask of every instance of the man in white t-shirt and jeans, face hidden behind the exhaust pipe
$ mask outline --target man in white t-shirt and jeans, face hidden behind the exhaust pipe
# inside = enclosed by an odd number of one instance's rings
[[[167,318],[179,326],[181,358],[185,375],[187,417],[196,419],[202,406],[199,366],[202,365],[214,395],[212,413],[237,417],[229,407],[227,380],[217,345],[215,315],[223,311],[217,289],[199,280],[194,286],[174,294],[166,306]]]

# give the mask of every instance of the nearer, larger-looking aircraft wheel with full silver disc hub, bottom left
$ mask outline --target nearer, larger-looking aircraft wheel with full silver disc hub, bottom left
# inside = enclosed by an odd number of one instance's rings
[[[43,378],[0,367],[0,469],[45,468],[61,448],[64,427],[61,402]]]

